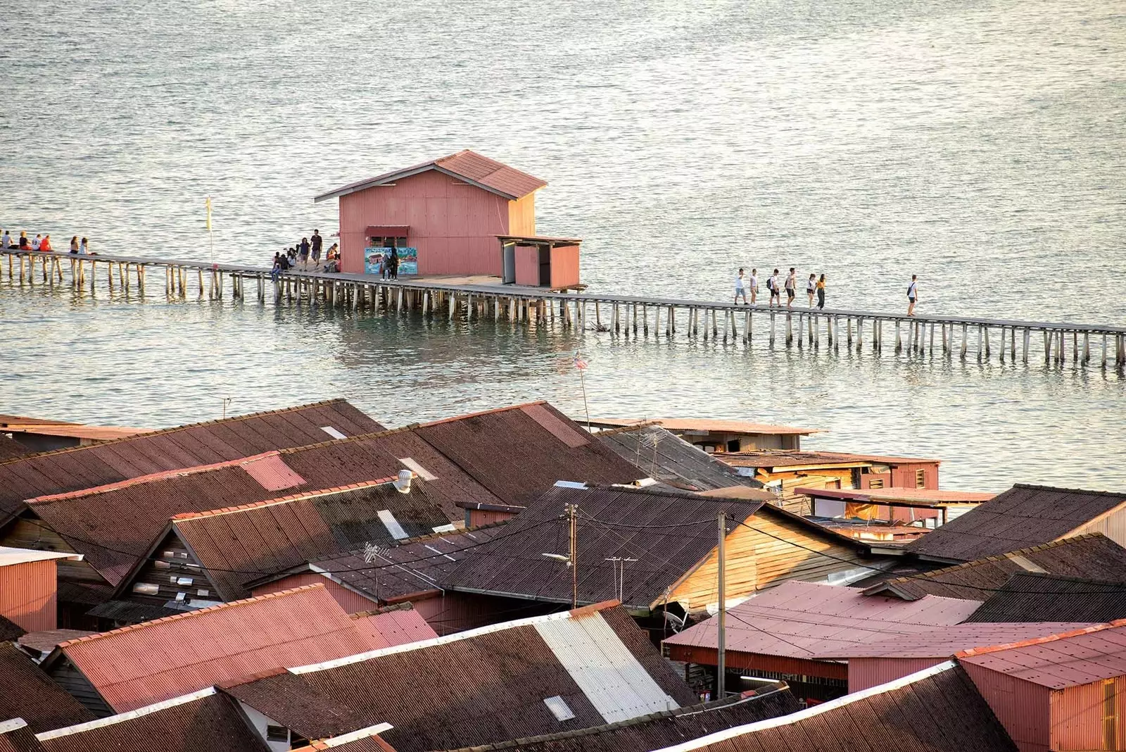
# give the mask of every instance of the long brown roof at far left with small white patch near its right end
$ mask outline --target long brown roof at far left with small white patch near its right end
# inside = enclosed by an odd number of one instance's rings
[[[0,462],[0,512],[21,510],[25,499],[313,444],[328,438],[322,427],[348,436],[383,430],[348,402],[329,400],[39,453]]]

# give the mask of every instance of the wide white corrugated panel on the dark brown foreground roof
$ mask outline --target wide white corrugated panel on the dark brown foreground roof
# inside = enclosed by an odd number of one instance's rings
[[[606,723],[680,707],[645,671],[601,614],[535,626]]]

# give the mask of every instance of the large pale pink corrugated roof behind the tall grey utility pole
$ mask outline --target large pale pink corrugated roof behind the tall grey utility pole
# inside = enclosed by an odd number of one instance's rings
[[[726,647],[813,659],[893,636],[913,643],[914,635],[958,624],[980,605],[980,601],[936,596],[903,601],[865,596],[855,588],[784,582],[727,609]],[[667,638],[664,644],[714,648],[718,638],[716,625],[716,617],[712,617]]]

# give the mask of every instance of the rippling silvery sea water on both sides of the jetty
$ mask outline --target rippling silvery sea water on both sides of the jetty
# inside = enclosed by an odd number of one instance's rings
[[[0,227],[265,263],[312,196],[471,147],[548,181],[596,289],[725,298],[740,266],[830,305],[1126,322],[1119,0],[14,2]],[[18,41],[18,45],[10,44]],[[152,285],[150,285],[152,287]],[[419,317],[144,304],[0,283],[0,412],[166,427],[342,395],[387,424],[547,399],[579,417],[826,429],[942,484],[1126,489],[1126,379]]]

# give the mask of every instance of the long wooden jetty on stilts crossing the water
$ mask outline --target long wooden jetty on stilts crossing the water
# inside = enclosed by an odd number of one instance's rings
[[[774,347],[839,351],[905,352],[980,362],[1038,361],[1047,366],[1126,367],[1126,328],[1071,322],[1008,321],[848,311],[770,308],[713,301],[636,297],[588,292],[551,292],[501,284],[449,284],[440,279],[378,279],[365,275],[289,270],[274,276],[263,267],[126,256],[0,250],[8,278],[19,285],[65,285],[91,292],[142,296],[163,287],[170,298],[198,296],[265,304],[322,304],[351,310],[417,311],[430,316],[526,322],[619,337],[681,335],[724,342],[765,341]],[[2,257],[0,257],[2,259]],[[3,275],[0,266],[0,277]],[[150,278],[149,271],[153,271]],[[68,281],[69,277],[69,281]]]

